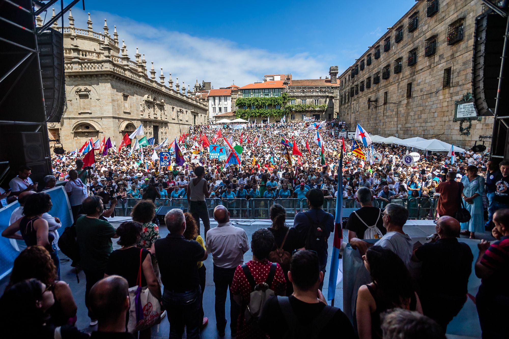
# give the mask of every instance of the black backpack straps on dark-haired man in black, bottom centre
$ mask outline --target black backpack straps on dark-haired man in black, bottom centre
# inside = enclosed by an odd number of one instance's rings
[[[322,312],[315,317],[312,323],[308,326],[303,326],[293,312],[289,297],[277,296],[277,302],[279,303],[281,312],[288,325],[288,331],[286,332],[284,339],[318,339],[322,329],[327,326],[336,312],[339,311],[336,307],[325,305]]]

